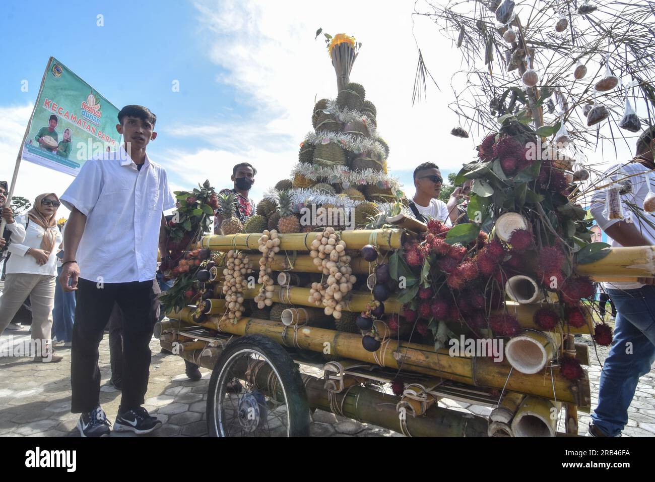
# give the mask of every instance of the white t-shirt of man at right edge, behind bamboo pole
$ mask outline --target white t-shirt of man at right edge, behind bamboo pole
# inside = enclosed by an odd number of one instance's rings
[[[648,240],[648,243],[651,245],[655,245],[655,230],[648,226],[646,222],[644,222],[639,216],[635,216],[631,211],[626,206],[626,201],[630,203],[634,203],[639,207],[640,209],[643,208],[644,205],[644,199],[646,195],[648,195],[648,182],[650,181],[651,189],[652,191],[655,192],[655,179],[652,178],[653,172],[647,172],[650,171],[647,167],[645,167],[643,164],[639,164],[637,162],[629,162],[626,164],[616,164],[610,167],[607,171],[605,171],[605,174],[607,174],[606,178],[610,180],[610,176],[614,176],[614,174],[618,171],[618,169],[621,169],[623,173],[625,174],[619,174],[617,177],[618,179],[624,178],[625,176],[629,176],[631,174],[637,174],[636,176],[632,176],[630,178],[627,178],[627,182],[630,183],[632,190],[630,193],[627,193],[626,195],[621,196],[621,201],[622,201],[622,207],[624,211],[624,216],[628,216],[628,214],[631,216],[632,221],[635,223],[635,227],[637,230],[641,231],[641,234],[643,237]],[[643,173],[643,174],[638,174],[638,173]],[[591,197],[591,208],[589,211],[591,211],[591,215],[595,218],[596,222],[598,223],[598,226],[601,227],[601,230],[605,231],[607,228],[612,226],[613,224],[616,224],[619,222],[619,219],[606,219],[605,216],[603,216],[603,211],[605,211],[605,197],[606,197],[606,192],[605,190],[599,190],[596,191],[596,193]],[[650,221],[655,224],[655,216],[653,214],[650,214],[649,212],[642,211],[642,214],[644,216],[647,216],[650,218]],[[609,235],[608,241],[610,241],[611,246],[617,246],[620,247],[621,245],[617,242],[614,241]],[[643,287],[644,285],[642,283],[603,283],[603,288],[605,289],[617,289],[617,290],[628,290],[628,289],[639,289]]]

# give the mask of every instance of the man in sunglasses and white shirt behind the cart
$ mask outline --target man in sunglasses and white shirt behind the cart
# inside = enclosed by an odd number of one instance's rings
[[[452,226],[448,207],[437,199],[442,185],[441,171],[435,163],[422,163],[414,169],[416,193],[409,203],[409,209],[416,220],[428,222],[430,219],[436,219],[446,226]]]

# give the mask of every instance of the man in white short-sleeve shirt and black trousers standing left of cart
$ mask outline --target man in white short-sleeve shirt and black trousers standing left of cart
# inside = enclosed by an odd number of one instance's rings
[[[71,216],[60,283],[66,291],[77,290],[71,411],[81,413],[77,428],[84,437],[110,432],[100,407],[98,345],[114,303],[124,315],[123,386],[114,430],[141,434],[161,425],[141,407],[149,377],[157,246],[166,252],[163,212],[175,207],[166,171],[145,153],[157,137],[155,121],[143,106],[122,108],[116,128],[124,145],[86,161],[61,197]]]

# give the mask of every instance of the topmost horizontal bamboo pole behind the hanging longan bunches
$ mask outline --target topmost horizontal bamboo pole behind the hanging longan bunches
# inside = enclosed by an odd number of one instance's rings
[[[316,239],[316,233],[279,233],[280,251],[310,251],[311,244]],[[247,249],[256,251],[259,247],[261,233],[208,235],[200,239],[198,247],[212,251],[230,251],[231,249]],[[400,248],[404,238],[402,230],[354,230],[341,231],[341,240],[348,249],[362,249],[365,245],[373,245],[383,251]]]

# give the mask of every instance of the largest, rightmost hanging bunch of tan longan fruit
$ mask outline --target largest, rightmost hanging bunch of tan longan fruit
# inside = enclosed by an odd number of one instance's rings
[[[327,276],[324,283],[312,283],[309,301],[316,306],[325,306],[326,315],[341,319],[345,297],[357,281],[352,275],[345,241],[339,239],[334,228],[326,228],[316,234],[309,256],[314,258],[316,267]]]

